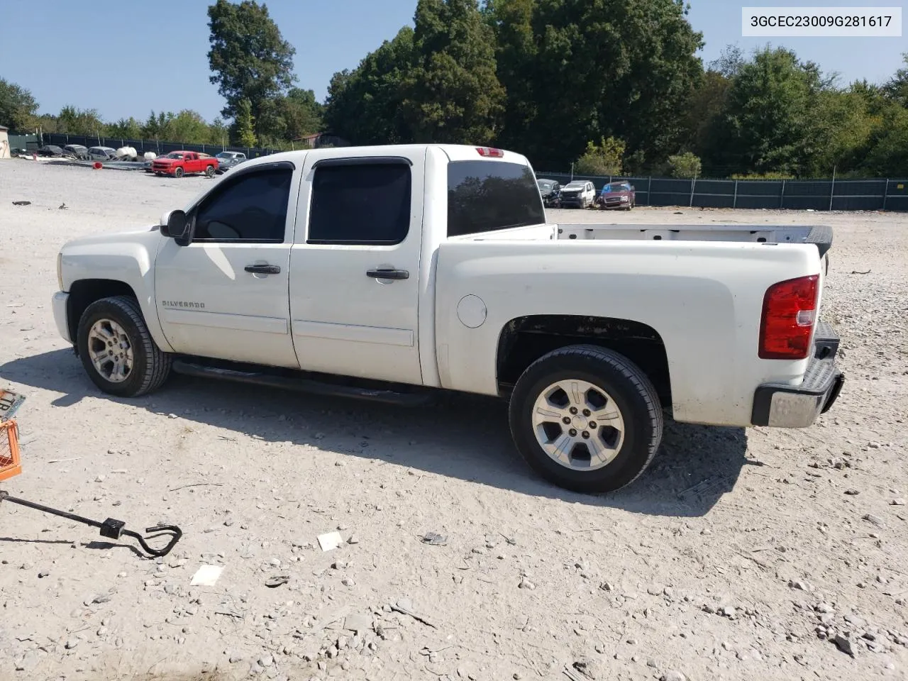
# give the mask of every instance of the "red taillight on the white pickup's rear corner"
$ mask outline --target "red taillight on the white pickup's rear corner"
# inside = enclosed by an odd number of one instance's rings
[[[816,321],[820,276],[779,281],[766,291],[760,320],[760,359],[804,360]]]

